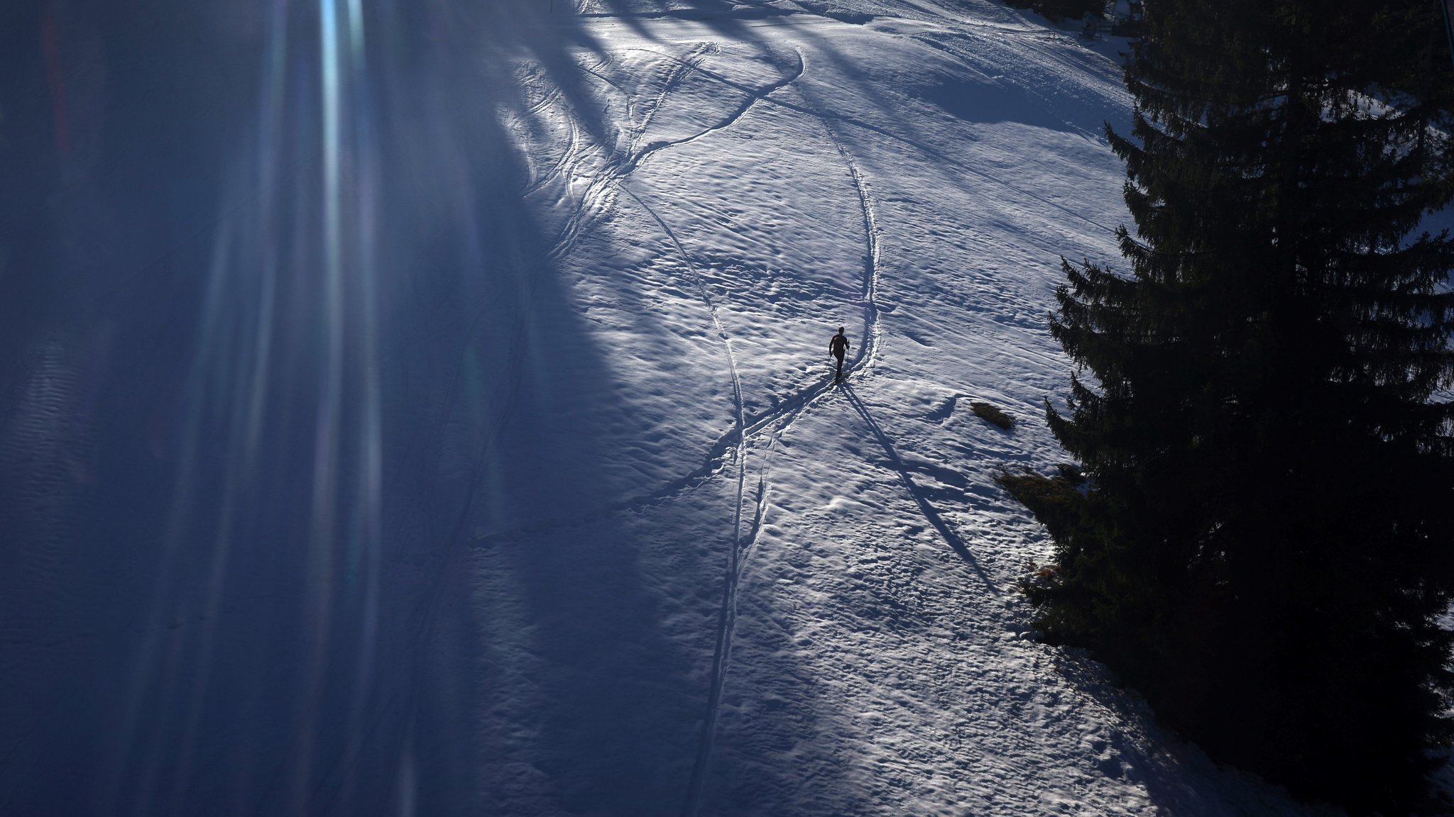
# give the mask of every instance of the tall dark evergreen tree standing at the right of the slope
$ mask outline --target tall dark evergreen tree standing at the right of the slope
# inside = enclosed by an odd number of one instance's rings
[[[1435,3],[1147,0],[1127,60],[1130,275],[1064,263],[1051,429],[1090,477],[1002,481],[1027,581],[1214,757],[1396,813],[1448,743],[1454,86]]]

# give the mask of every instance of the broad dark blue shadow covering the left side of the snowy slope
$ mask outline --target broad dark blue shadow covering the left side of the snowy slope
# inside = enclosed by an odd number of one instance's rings
[[[625,490],[494,116],[580,38],[266,6],[0,20],[0,810],[473,813],[539,757],[535,810],[676,810],[702,689],[630,532],[518,548],[507,677],[465,545]]]

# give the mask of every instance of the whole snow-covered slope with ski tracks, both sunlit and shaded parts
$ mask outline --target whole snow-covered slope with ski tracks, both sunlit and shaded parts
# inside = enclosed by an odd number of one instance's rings
[[[0,813],[1304,813],[1015,593],[1124,44],[254,6],[47,12],[0,99],[58,154],[0,233]]]

